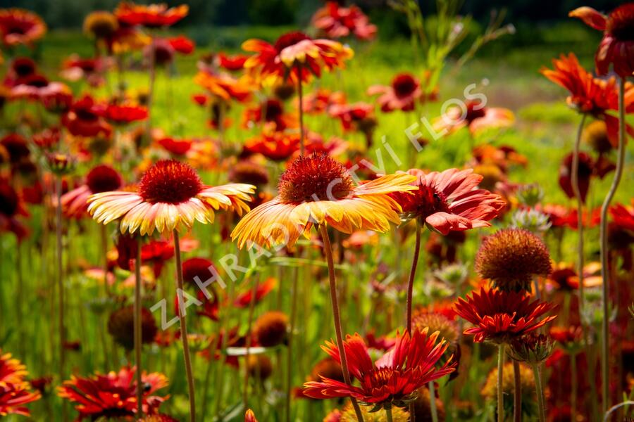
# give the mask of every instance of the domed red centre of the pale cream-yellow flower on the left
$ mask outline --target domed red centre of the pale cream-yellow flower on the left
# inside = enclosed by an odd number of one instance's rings
[[[149,203],[180,204],[194,198],[202,188],[192,167],[176,160],[161,160],[143,175],[139,195]]]

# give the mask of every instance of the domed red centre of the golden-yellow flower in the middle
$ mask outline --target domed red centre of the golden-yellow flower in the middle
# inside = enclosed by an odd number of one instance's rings
[[[346,167],[326,154],[300,156],[280,177],[279,196],[284,203],[339,200],[354,189]]]

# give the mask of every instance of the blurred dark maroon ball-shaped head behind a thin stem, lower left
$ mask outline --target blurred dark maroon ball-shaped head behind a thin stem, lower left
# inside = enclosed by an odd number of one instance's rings
[[[110,314],[108,318],[108,333],[113,336],[114,340],[122,345],[126,350],[132,350],[135,347],[135,307],[129,305],[117,309]],[[149,344],[154,342],[157,332],[156,321],[154,315],[148,309],[141,308],[141,344]]]

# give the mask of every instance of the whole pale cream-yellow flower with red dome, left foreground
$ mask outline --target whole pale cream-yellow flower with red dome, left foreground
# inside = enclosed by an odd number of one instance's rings
[[[121,233],[139,230],[144,236],[154,229],[190,228],[194,219],[213,223],[214,211],[220,209],[242,215],[253,192],[254,186],[247,184],[205,186],[189,165],[160,160],[145,172],[137,192],[97,193],[88,198],[88,212],[101,224],[120,218]]]

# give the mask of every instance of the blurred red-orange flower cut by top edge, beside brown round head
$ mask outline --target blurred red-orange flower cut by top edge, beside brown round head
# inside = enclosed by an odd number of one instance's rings
[[[143,25],[149,28],[171,26],[187,16],[189,6],[181,4],[168,8],[166,4],[134,4],[123,2],[117,6],[115,15],[127,25]]]

